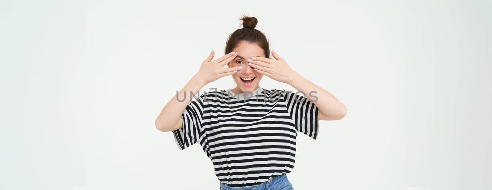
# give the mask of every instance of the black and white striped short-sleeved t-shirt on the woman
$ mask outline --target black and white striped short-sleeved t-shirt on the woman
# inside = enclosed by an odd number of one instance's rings
[[[173,135],[180,150],[201,144],[220,183],[249,187],[294,168],[297,134],[316,139],[317,116],[316,105],[300,92],[213,91],[187,105],[183,127]]]

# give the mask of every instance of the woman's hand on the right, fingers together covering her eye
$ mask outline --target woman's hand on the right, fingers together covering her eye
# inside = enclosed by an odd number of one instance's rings
[[[248,59],[248,65],[260,74],[283,83],[289,83],[298,73],[290,69],[289,65],[278,54],[272,50],[275,59],[266,57],[253,57]]]

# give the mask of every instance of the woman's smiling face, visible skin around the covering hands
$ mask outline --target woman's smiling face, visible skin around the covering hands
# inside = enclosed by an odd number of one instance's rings
[[[234,78],[234,81],[236,81],[236,84],[238,85],[235,90],[237,91],[238,88],[241,90],[235,93],[243,93],[246,91],[252,92],[256,90],[263,74],[254,71],[254,68],[248,65],[247,59],[251,59],[252,57],[265,57],[263,49],[256,43],[242,41],[238,44],[238,46],[236,46],[236,48],[232,49],[232,51],[238,52],[238,55],[236,55],[236,57],[229,64],[227,64],[227,66],[243,67],[235,74],[232,74],[232,78]]]

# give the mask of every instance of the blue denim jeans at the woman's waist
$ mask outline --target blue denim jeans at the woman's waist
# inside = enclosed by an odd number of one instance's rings
[[[289,179],[287,179],[287,175],[282,173],[282,175],[272,178],[267,182],[247,188],[229,187],[228,184],[220,183],[220,190],[294,190],[294,188]]]

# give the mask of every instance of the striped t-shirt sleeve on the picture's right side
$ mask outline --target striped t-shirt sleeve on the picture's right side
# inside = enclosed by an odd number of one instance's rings
[[[316,139],[318,136],[318,107],[302,93],[284,91],[287,110],[298,132]]]

